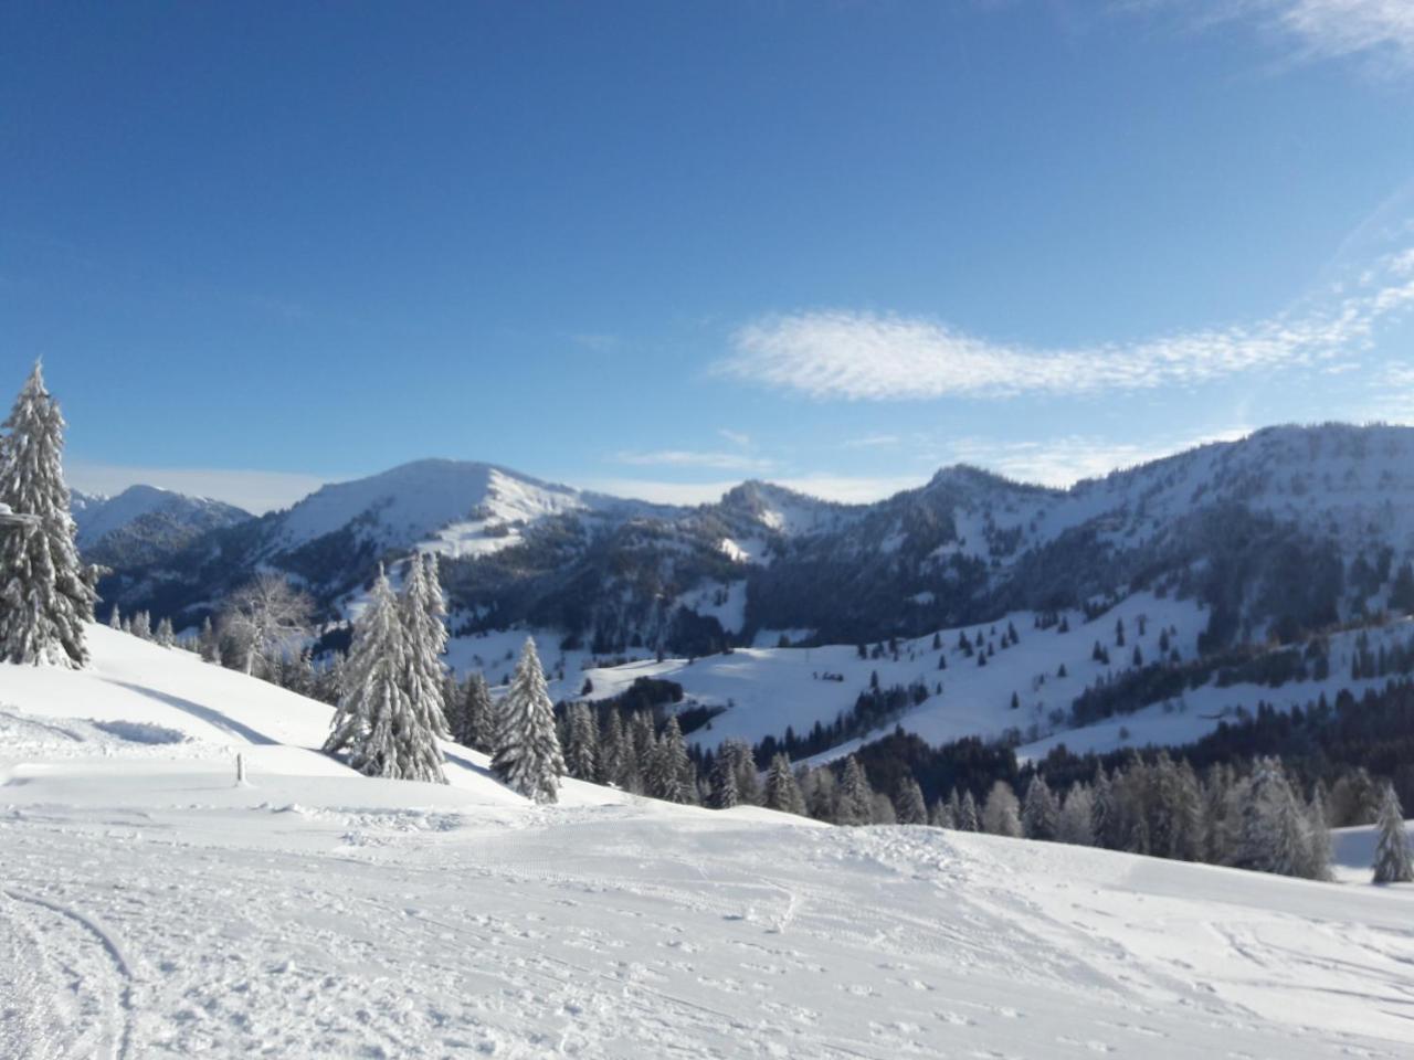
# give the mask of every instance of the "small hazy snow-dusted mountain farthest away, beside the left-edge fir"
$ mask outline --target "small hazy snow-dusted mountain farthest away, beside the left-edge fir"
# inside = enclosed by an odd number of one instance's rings
[[[69,510],[85,558],[133,567],[170,555],[197,537],[253,516],[233,505],[157,486],[129,486],[107,497],[71,490]]]

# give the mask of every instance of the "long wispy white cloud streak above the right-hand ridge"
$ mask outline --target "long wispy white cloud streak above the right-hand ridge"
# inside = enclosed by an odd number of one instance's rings
[[[994,342],[942,321],[851,310],[766,317],[731,336],[721,375],[816,399],[1087,394],[1205,383],[1311,366],[1370,345],[1376,326],[1414,305],[1414,252],[1383,257],[1322,307],[1250,325],[1134,343],[1045,349]]]

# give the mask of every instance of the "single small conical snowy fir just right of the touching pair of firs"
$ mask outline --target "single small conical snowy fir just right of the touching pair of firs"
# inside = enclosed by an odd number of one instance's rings
[[[564,759],[554,731],[554,704],[534,639],[526,637],[510,690],[501,700],[492,769],[513,790],[537,803],[559,797]]]

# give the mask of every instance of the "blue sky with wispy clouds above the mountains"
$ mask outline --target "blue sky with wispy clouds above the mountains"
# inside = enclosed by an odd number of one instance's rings
[[[0,10],[0,367],[76,485],[706,499],[1414,420],[1414,4]]]

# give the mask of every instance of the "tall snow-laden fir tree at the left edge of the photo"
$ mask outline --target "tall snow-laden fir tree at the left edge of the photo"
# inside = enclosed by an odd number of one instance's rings
[[[0,503],[38,520],[0,530],[0,660],[82,667],[98,571],[74,544],[64,417],[38,363],[0,430]]]

